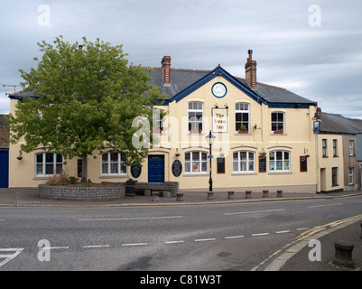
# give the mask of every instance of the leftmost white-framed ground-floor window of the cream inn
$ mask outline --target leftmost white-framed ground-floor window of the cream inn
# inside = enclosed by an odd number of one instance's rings
[[[36,176],[51,176],[63,172],[63,155],[54,153],[35,154]]]

